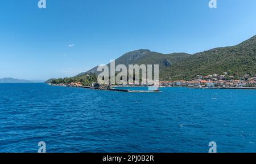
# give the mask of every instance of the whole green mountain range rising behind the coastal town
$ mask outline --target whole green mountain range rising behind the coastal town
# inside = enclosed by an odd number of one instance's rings
[[[196,75],[223,74],[242,77],[256,75],[256,36],[236,46],[215,48],[193,55],[162,54],[150,50],[131,51],[115,60],[117,64],[159,64],[160,80],[191,80]],[[108,64],[109,65],[109,64]],[[97,67],[77,76],[93,72]]]

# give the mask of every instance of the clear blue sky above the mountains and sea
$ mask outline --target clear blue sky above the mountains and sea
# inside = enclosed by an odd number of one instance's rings
[[[1,0],[0,78],[69,77],[127,51],[197,53],[256,34],[255,0]]]

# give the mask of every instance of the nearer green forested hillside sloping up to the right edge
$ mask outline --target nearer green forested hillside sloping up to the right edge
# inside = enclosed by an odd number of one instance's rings
[[[236,46],[215,48],[190,55],[164,68],[160,79],[189,80],[196,75],[223,74],[243,77],[256,75],[256,36]]]

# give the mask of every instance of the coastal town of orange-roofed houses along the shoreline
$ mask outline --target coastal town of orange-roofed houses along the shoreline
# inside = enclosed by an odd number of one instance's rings
[[[89,86],[84,85],[80,81],[71,83],[49,83],[63,87],[80,87],[98,90],[112,90],[114,87],[138,87],[142,85],[100,85],[91,83]],[[150,84],[143,85],[150,86]],[[197,75],[191,81],[176,80],[176,81],[160,81],[159,87],[189,87],[189,88],[223,88],[223,89],[256,89],[256,76],[244,75],[243,77],[235,78],[229,76],[227,72],[223,75],[213,74],[207,76]]]

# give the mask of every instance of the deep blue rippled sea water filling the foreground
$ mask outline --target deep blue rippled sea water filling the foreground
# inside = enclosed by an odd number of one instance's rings
[[[256,152],[256,90],[0,84],[0,152]]]

